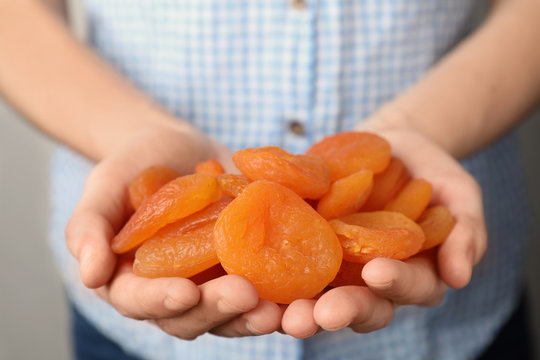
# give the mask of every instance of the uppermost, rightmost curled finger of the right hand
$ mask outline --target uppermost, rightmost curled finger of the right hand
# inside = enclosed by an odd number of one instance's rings
[[[364,266],[362,278],[371,291],[397,304],[433,306],[447,289],[439,279],[433,258],[432,254],[421,254],[406,262],[377,258]]]

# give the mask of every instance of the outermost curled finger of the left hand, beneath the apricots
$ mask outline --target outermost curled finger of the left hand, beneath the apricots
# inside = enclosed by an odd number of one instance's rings
[[[196,306],[200,299],[199,288],[190,280],[140,277],[128,261],[120,264],[114,280],[98,294],[122,315],[138,320],[176,316]]]

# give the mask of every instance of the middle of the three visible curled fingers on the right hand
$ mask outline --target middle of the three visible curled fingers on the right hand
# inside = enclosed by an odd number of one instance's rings
[[[392,321],[394,304],[364,286],[341,286],[320,297],[313,317],[325,330],[350,327],[366,333],[381,329]]]

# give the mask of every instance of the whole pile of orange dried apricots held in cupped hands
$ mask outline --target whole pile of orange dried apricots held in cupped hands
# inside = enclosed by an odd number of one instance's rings
[[[164,166],[129,188],[135,209],[112,241],[136,249],[134,272],[195,282],[225,273],[259,296],[288,304],[327,286],[362,284],[363,264],[407,259],[442,243],[450,212],[429,206],[432,185],[411,178],[390,144],[369,132],[328,136],[305,154],[239,150],[241,174],[216,160],[180,176]]]

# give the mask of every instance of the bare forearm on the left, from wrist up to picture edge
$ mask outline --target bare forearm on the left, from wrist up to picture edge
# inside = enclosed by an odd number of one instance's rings
[[[0,94],[44,132],[95,160],[147,127],[193,131],[79,44],[39,2],[0,0],[0,54]]]

